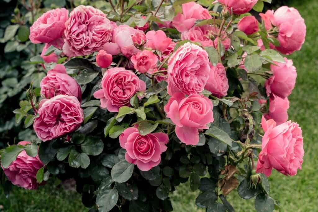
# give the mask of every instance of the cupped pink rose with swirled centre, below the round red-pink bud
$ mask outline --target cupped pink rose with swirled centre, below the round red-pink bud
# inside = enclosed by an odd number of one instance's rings
[[[118,112],[121,106],[129,106],[129,100],[136,92],[146,90],[145,82],[124,68],[108,69],[101,87],[94,93],[94,97],[100,99],[100,107],[110,112]]]

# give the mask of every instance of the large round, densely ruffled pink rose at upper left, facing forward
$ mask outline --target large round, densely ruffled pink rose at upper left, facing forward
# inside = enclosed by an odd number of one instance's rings
[[[91,6],[76,7],[65,26],[63,52],[69,57],[92,54],[112,39],[113,25]]]

